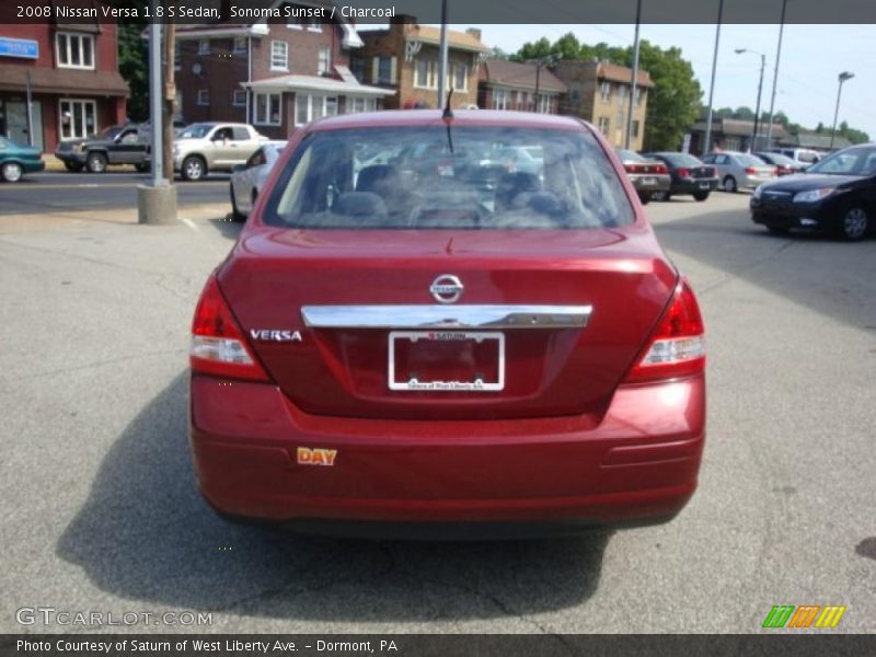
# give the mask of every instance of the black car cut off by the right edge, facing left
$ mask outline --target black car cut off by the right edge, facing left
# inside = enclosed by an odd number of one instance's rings
[[[876,143],[852,146],[805,173],[761,185],[750,207],[751,220],[771,232],[805,228],[862,240],[876,226]]]

